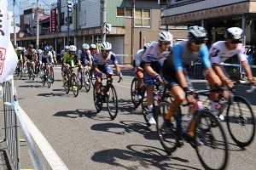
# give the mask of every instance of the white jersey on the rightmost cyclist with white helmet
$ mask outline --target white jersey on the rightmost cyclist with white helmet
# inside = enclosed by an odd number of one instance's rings
[[[247,60],[247,55],[245,54],[245,48],[243,44],[238,43],[236,49],[228,50],[225,45],[225,41],[219,41],[212,44],[209,50],[211,56],[212,64],[220,64],[227,59],[230,59],[234,55],[237,55],[238,59],[241,61]]]

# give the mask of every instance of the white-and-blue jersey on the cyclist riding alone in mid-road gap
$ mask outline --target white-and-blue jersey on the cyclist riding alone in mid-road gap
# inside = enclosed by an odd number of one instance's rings
[[[94,55],[94,65],[108,65],[108,62],[112,60],[113,65],[118,65],[119,62],[116,59],[115,54],[113,52],[109,52],[107,59],[103,59],[102,52],[98,52]]]

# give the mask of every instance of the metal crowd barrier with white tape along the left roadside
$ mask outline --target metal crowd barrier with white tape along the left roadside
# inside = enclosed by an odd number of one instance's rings
[[[23,130],[26,146],[30,153],[33,167],[37,170],[43,170],[44,165],[41,163],[37,150],[32,143],[31,135],[26,127],[26,123],[20,116],[20,105],[16,100],[14,80],[3,82],[3,108],[4,108],[4,127],[7,150],[15,169],[20,169],[20,134],[19,122]]]

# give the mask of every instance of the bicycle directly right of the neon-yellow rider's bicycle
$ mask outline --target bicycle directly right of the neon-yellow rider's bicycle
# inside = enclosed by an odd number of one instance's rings
[[[79,71],[78,79],[79,79],[79,90],[84,88],[86,92],[90,91],[90,72],[86,69],[86,65]]]

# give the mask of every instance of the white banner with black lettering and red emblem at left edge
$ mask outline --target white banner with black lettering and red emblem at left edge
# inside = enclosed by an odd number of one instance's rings
[[[18,57],[10,41],[8,0],[0,0],[0,82],[13,78]]]

